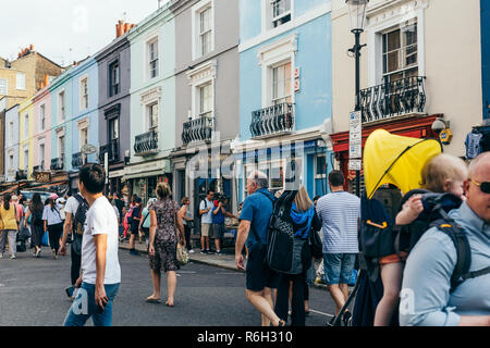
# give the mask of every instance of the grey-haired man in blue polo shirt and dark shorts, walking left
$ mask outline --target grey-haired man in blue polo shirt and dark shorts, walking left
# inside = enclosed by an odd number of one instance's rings
[[[273,311],[272,288],[278,287],[279,276],[265,263],[267,249],[267,227],[272,215],[273,196],[267,189],[267,175],[255,171],[247,178],[248,197],[243,202],[235,245],[235,263],[245,270],[242,250],[246,244],[248,261],[246,265],[246,296],[261,313],[262,326],[284,326]],[[252,229],[252,231],[250,231]],[[260,239],[257,240],[256,236]]]

